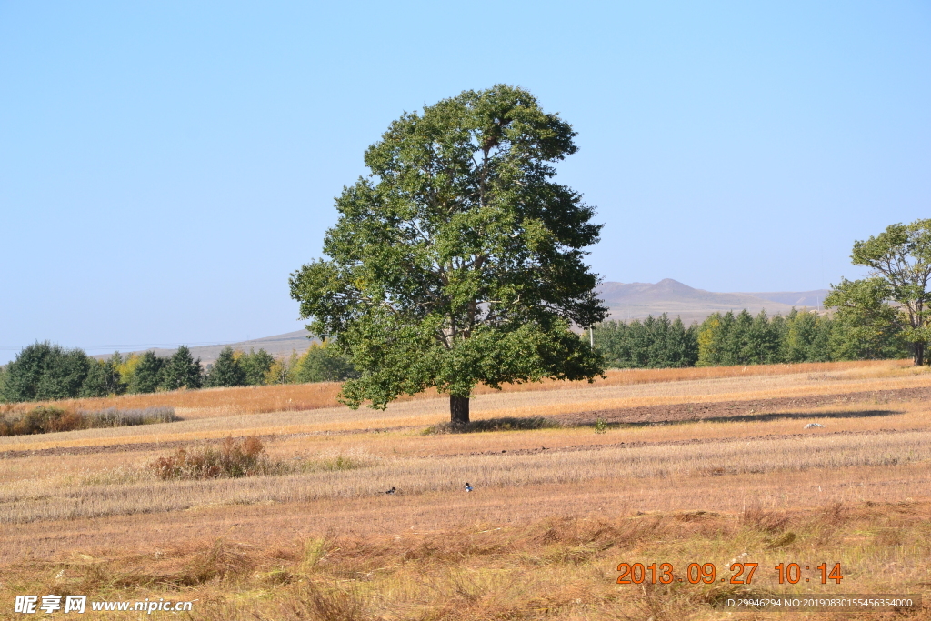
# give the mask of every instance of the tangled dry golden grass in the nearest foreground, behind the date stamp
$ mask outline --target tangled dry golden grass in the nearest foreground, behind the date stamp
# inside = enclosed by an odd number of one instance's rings
[[[92,600],[196,601],[190,618],[238,619],[777,619],[732,616],[736,594],[924,593],[931,570],[927,503],[748,506],[734,513],[550,516],[498,526],[444,520],[431,530],[281,535],[258,544],[245,529],[165,538],[147,549],[82,548],[50,563],[0,569],[15,593],[87,593]],[[756,562],[749,586],[715,581],[618,585],[618,563]],[[779,585],[774,567],[841,563],[843,583]],[[679,574],[681,575],[681,574]],[[928,609],[895,617],[927,619]],[[107,618],[138,618],[107,614]],[[853,618],[806,614],[804,618]]]

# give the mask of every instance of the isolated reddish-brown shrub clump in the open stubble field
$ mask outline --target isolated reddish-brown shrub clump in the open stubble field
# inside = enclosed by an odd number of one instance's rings
[[[178,449],[168,457],[159,457],[150,467],[155,476],[169,479],[235,479],[258,474],[271,474],[277,466],[268,459],[262,441],[256,436],[246,439],[227,438],[219,447],[207,447],[188,452]]]

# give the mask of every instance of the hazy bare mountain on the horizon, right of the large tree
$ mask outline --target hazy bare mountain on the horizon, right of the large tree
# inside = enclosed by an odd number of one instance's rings
[[[814,309],[827,290],[716,293],[694,289],[678,280],[665,278],[657,283],[605,282],[600,285],[600,298],[611,309],[612,319],[642,319],[668,313],[681,317],[686,324],[701,321],[711,313],[739,312],[746,308],[754,315],[762,309],[770,315],[786,314],[794,306]]]

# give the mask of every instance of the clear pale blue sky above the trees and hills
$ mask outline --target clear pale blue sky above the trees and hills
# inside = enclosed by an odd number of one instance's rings
[[[364,149],[498,82],[579,132],[607,280],[823,288],[931,216],[927,2],[0,0],[0,345],[299,329]]]

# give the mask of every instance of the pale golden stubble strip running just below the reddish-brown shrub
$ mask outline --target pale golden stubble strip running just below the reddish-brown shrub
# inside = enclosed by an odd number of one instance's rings
[[[507,487],[614,480],[618,492],[643,479],[779,473],[857,466],[907,466],[931,460],[931,433],[810,435],[689,444],[579,447],[572,451],[465,454],[451,457],[344,455],[364,465],[299,475],[163,481],[144,466],[117,466],[83,478],[27,479],[0,486],[0,522],[62,520],[216,504],[295,503],[318,498],[400,493],[455,493],[470,481],[484,493]],[[931,473],[929,473],[931,474]],[[927,477],[914,481],[927,486]]]

